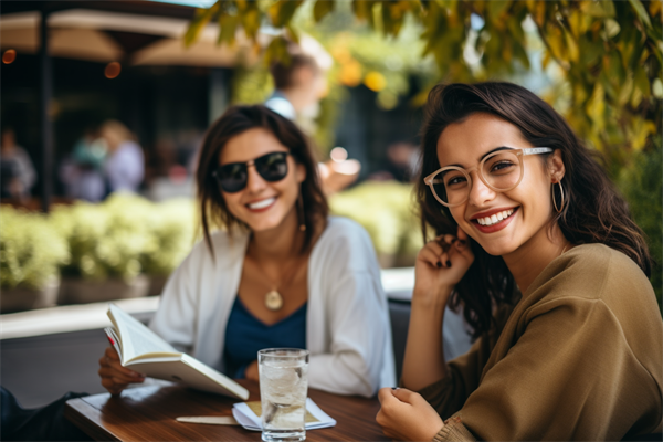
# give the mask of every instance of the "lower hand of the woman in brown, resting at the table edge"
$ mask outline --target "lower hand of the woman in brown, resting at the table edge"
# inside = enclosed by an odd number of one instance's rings
[[[388,438],[430,442],[444,427],[442,418],[419,393],[406,388],[382,388],[378,399],[381,408],[376,421]]]

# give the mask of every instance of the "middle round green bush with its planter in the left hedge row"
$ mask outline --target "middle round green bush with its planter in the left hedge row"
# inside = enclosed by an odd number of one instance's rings
[[[103,204],[59,207],[52,221],[65,238],[71,260],[62,269],[61,304],[146,296],[149,278],[140,256],[150,241],[150,203],[118,194]]]

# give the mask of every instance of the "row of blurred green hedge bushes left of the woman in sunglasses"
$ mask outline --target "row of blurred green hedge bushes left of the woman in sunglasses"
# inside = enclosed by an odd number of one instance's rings
[[[86,280],[168,275],[191,250],[194,206],[116,194],[102,204],[57,206],[49,217],[1,207],[0,286],[43,286],[59,274]]]

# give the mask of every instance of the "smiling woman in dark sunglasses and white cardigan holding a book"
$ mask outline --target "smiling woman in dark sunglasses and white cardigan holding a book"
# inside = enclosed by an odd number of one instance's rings
[[[295,124],[264,106],[231,107],[204,137],[197,183],[204,241],[170,276],[151,329],[231,378],[257,381],[257,350],[292,347],[311,351],[312,388],[370,397],[393,385],[372,244],[328,215]],[[113,347],[99,364],[112,393],[143,380]]]

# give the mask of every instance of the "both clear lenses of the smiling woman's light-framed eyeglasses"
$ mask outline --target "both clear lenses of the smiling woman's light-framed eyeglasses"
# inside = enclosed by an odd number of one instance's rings
[[[495,190],[509,190],[518,185],[522,164],[518,156],[507,150],[487,156],[480,165],[478,172],[484,181]],[[466,171],[442,169],[433,177],[433,191],[449,204],[461,204],[470,197],[471,183]]]

